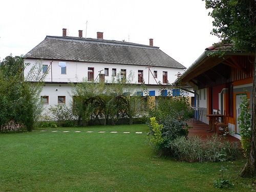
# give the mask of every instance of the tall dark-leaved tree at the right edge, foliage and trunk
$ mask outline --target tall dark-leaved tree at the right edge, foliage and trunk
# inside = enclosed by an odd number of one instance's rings
[[[204,1],[204,0],[202,0]],[[255,0],[205,0],[209,15],[214,18],[211,34],[222,44],[231,44],[232,51],[246,51],[256,55],[256,1]],[[252,88],[251,150],[241,172],[243,177],[256,176],[256,57]]]

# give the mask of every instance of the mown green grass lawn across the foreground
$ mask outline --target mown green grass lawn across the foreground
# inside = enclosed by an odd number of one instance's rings
[[[45,130],[0,134],[0,191],[220,191],[221,163],[154,158],[144,124]],[[234,187],[222,191],[251,190],[236,179],[244,163],[224,163]]]

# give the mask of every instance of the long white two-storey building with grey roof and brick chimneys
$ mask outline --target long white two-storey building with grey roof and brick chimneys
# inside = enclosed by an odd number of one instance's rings
[[[63,29],[62,36],[46,36],[24,56],[25,63],[31,63],[25,76],[37,60],[42,62],[43,73],[49,70],[41,92],[46,109],[58,103],[72,103],[69,82],[79,82],[83,78],[98,81],[99,76],[110,82],[118,73],[122,78],[133,71],[133,83],[141,84],[144,80],[150,95],[158,96],[158,82],[172,83],[185,69],[159,47],[153,46],[153,39],[147,46],[105,40],[102,32],[97,33],[97,39],[83,38],[81,30],[78,34],[79,37],[70,37],[67,29]]]

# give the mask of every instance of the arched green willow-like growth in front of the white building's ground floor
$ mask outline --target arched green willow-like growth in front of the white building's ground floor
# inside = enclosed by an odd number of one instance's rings
[[[104,124],[111,119],[114,125],[121,118],[129,118],[132,124],[138,105],[141,104],[141,96],[137,95],[137,91],[142,90],[132,83],[132,76],[130,73],[126,79],[121,79],[118,74],[110,82],[83,79],[77,84],[72,83],[78,124],[81,120],[86,124],[90,120],[103,118]]]

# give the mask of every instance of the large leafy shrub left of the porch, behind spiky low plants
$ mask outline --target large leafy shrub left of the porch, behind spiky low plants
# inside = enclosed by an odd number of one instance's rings
[[[169,154],[172,152],[171,143],[177,138],[188,135],[187,120],[194,114],[193,109],[190,108],[188,99],[185,96],[179,97],[165,97],[161,96],[158,100],[158,105],[150,110],[150,116],[155,117],[155,120],[162,126],[161,134],[156,133],[152,124],[150,124],[151,137],[161,137],[162,143],[157,144],[160,151]],[[152,121],[152,119],[151,119]],[[155,138],[159,140],[159,138]],[[151,139],[154,141],[154,139]],[[152,143],[152,142],[151,142]],[[154,144],[154,142],[152,143]]]

